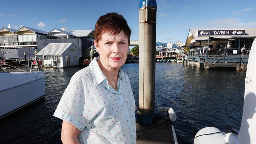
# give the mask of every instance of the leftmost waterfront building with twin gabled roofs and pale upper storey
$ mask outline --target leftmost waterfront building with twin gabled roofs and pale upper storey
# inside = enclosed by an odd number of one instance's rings
[[[7,54],[5,57],[10,59],[33,57],[37,50],[37,41],[47,39],[47,32],[23,26],[19,30],[2,28],[0,30],[0,48]]]

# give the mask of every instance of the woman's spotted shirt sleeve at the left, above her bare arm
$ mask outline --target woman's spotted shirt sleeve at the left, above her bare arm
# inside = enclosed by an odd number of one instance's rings
[[[54,116],[73,124],[77,129],[82,131],[94,115],[87,113],[85,106],[85,83],[81,78],[76,79],[73,76],[67,86],[59,104],[54,112]]]

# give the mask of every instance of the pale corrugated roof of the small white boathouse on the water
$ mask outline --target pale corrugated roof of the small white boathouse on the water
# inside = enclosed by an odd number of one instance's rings
[[[50,43],[37,55],[61,55],[72,43]],[[77,48],[74,44],[72,44]],[[79,50],[79,48],[77,48]]]

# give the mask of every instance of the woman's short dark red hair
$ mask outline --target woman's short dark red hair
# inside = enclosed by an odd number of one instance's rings
[[[100,41],[101,35],[105,32],[115,35],[123,31],[128,37],[128,44],[130,44],[131,29],[129,28],[124,17],[118,13],[107,13],[106,15],[100,16],[95,24],[94,31],[95,42],[97,43]]]

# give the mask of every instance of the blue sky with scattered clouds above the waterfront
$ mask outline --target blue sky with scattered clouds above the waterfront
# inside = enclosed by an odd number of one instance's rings
[[[256,28],[255,0],[156,0],[157,42],[186,42],[190,28]],[[139,0],[8,0],[0,9],[0,27],[50,31],[94,30],[101,15],[117,12],[139,39]]]

